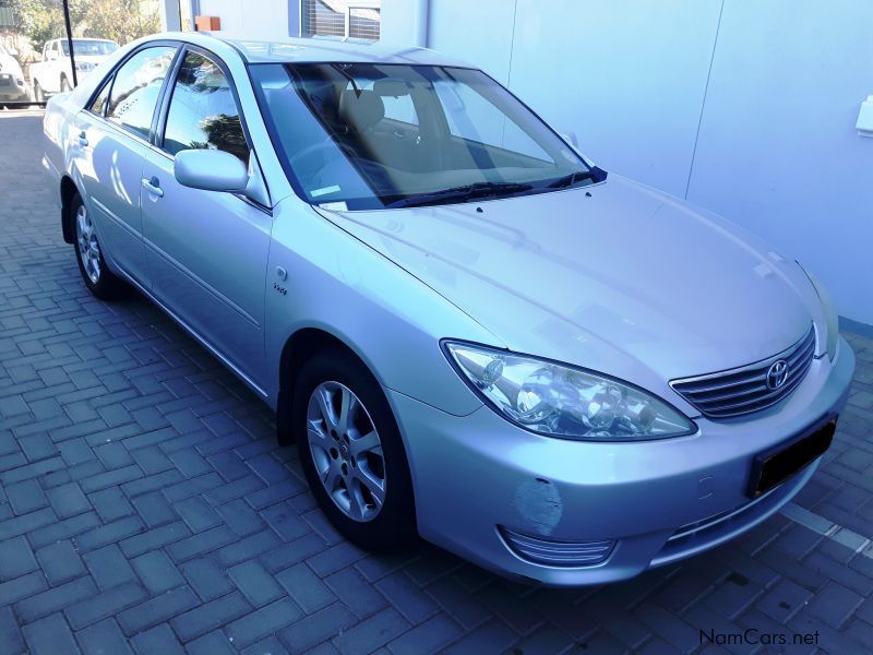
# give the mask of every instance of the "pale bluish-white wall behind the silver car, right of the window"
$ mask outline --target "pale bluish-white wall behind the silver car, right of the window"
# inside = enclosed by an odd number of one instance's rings
[[[417,4],[383,0],[383,40],[412,43]],[[430,0],[428,13],[429,47],[507,84],[608,170],[764,236],[873,324],[873,139],[854,130],[873,93],[873,2]]]

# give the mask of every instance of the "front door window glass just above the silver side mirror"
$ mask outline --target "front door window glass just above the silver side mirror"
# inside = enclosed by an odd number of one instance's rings
[[[188,52],[172,90],[164,150],[220,150],[249,163],[249,144],[224,71],[205,55]]]

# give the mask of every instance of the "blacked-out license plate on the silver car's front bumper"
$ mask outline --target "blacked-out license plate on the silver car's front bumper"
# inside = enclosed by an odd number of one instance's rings
[[[760,453],[752,466],[749,496],[754,498],[769,491],[824,454],[830,448],[836,429],[835,416],[787,445],[780,444],[774,450]]]

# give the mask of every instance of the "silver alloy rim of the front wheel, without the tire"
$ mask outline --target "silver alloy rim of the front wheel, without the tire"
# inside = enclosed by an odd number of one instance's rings
[[[319,384],[307,407],[307,437],[319,480],[334,504],[357,522],[385,503],[385,457],[369,412],[339,382]]]

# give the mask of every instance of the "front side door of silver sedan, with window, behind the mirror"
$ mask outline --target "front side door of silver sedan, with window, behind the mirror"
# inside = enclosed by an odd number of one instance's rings
[[[174,157],[228,152],[252,165],[227,68],[188,46],[167,87],[166,118],[147,154],[143,229],[154,294],[255,384],[264,360],[264,286],[273,217],[241,194],[181,186]]]

